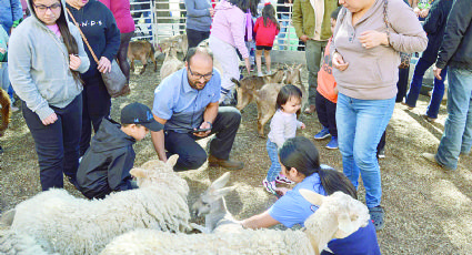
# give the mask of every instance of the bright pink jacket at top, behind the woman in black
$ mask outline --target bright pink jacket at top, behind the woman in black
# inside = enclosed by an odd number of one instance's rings
[[[130,0],[99,0],[108,7],[117,20],[121,33],[134,32],[134,21],[131,17]]]

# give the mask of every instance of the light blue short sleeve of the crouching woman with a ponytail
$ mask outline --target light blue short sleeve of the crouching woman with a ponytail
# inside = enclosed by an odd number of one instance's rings
[[[303,223],[305,218],[302,217],[299,203],[292,196],[293,191],[287,192],[285,195],[280,197],[270,208],[269,215],[275,221],[283,224],[285,227],[292,227],[295,224]]]

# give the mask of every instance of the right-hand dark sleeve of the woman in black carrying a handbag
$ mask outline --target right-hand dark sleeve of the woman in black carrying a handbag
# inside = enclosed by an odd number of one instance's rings
[[[101,57],[106,57],[111,62],[117,58],[118,50],[120,49],[120,42],[121,42],[120,30],[118,29],[117,21],[114,20],[114,17],[111,13],[111,11],[108,8],[102,8],[102,9],[103,9],[102,10],[103,16],[107,17],[106,18],[107,28],[104,30],[107,45]]]

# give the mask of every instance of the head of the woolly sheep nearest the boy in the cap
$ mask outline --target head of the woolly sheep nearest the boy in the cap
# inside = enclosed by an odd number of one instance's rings
[[[159,160],[148,161],[141,167],[132,169],[130,174],[138,180],[139,187],[155,186],[158,183],[187,185],[187,182],[173,172],[178,159],[179,155],[174,154],[165,163]]]

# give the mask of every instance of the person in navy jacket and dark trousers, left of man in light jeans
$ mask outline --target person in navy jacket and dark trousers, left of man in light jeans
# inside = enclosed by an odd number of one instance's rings
[[[449,12],[451,11],[453,0],[435,0],[431,7],[430,14],[423,24],[424,31],[428,33],[428,47],[421,55],[414,68],[413,79],[411,79],[410,91],[406,94],[406,105],[410,108],[416,106],[416,100],[420,95],[423,83],[424,72],[433,65],[438,58],[438,51],[441,47],[444,35],[445,22]],[[441,105],[442,96],[444,95],[444,78],[446,67],[441,72],[441,79],[434,79],[434,89],[431,95],[430,104],[428,105],[424,118],[428,121],[438,119],[438,112]]]

